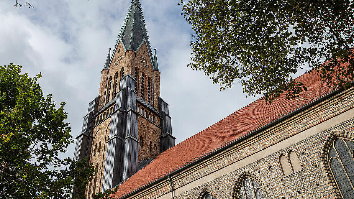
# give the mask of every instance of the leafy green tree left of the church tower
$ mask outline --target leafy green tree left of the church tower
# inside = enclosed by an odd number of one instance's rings
[[[58,157],[73,143],[65,103],[55,108],[52,95],[44,97],[37,83],[41,74],[30,78],[21,68],[0,67],[0,198],[66,199],[73,185],[78,188],[73,198],[84,198],[93,166],[87,158]]]

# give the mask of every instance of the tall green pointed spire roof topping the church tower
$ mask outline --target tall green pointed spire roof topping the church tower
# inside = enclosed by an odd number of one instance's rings
[[[145,39],[152,58],[143,12],[139,0],[132,0],[123,28],[119,35],[126,50],[136,51]]]

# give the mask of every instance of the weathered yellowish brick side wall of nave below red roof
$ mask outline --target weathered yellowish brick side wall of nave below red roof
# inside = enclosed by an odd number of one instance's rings
[[[204,189],[219,199],[236,198],[235,185],[247,175],[257,178],[268,199],[341,198],[322,161],[322,150],[333,131],[354,133],[353,93],[352,87],[171,175],[175,198],[197,199]],[[343,115],[346,120],[337,124]],[[299,141],[289,144],[295,139]],[[290,150],[302,170],[284,176],[279,155]],[[151,183],[124,198],[171,198],[169,180]]]

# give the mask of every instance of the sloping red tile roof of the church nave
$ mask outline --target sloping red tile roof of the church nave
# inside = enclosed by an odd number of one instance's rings
[[[320,86],[319,76],[315,72],[301,75],[296,80],[307,87],[300,97],[288,100],[282,94],[271,104],[265,103],[263,98],[257,99],[157,155],[150,164],[120,184],[115,195],[119,198],[127,195],[332,91],[326,85]]]

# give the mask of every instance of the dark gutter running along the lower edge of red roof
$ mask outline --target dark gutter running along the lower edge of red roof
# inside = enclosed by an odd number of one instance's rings
[[[354,81],[352,81],[350,84],[351,84],[350,87],[353,86]],[[349,87],[348,87],[348,88],[349,88]],[[160,181],[165,180],[166,178],[168,178],[168,179],[170,180],[170,179],[171,179],[171,177],[170,177],[171,175],[175,175],[175,174],[177,174],[178,172],[180,172],[180,171],[182,171],[182,170],[184,170],[184,169],[186,169],[186,168],[188,168],[188,167],[190,167],[190,166],[192,166],[192,165],[194,165],[194,164],[196,164],[196,163],[199,163],[200,161],[205,160],[205,159],[211,157],[212,155],[217,154],[217,153],[219,153],[219,152],[221,152],[221,151],[223,151],[223,150],[225,150],[225,149],[227,149],[227,148],[229,148],[229,147],[235,145],[236,143],[238,143],[238,142],[240,142],[240,141],[245,140],[245,139],[247,139],[247,138],[249,138],[249,137],[255,135],[256,133],[263,131],[264,129],[267,129],[267,128],[269,128],[269,127],[275,125],[275,124],[278,124],[278,123],[279,123],[280,121],[282,121],[282,120],[285,120],[285,119],[287,119],[287,118],[290,118],[291,116],[296,115],[297,113],[299,113],[299,112],[301,112],[301,111],[303,111],[303,110],[305,110],[305,109],[307,109],[307,108],[309,108],[309,107],[312,107],[312,106],[314,106],[315,104],[324,101],[325,99],[328,99],[328,98],[330,98],[330,97],[332,97],[332,96],[338,94],[338,93],[341,92],[341,91],[343,91],[343,90],[342,90],[342,89],[336,89],[336,90],[334,90],[334,91],[332,91],[332,92],[330,92],[330,93],[328,93],[328,94],[326,94],[326,95],[324,95],[324,96],[322,96],[322,97],[320,97],[320,98],[318,98],[318,99],[316,99],[316,100],[314,100],[314,101],[312,101],[312,102],[306,104],[305,106],[302,106],[302,107],[300,107],[300,108],[294,110],[293,112],[288,113],[288,114],[282,116],[281,118],[276,119],[276,120],[274,120],[273,122],[271,122],[271,123],[269,123],[269,124],[267,124],[267,125],[264,125],[264,126],[260,127],[259,129],[256,129],[256,130],[254,130],[254,131],[248,133],[247,135],[244,135],[244,136],[238,138],[237,140],[235,140],[235,141],[233,141],[233,142],[230,142],[229,144],[226,144],[225,146],[223,146],[223,147],[221,147],[221,148],[218,148],[218,149],[216,149],[215,151],[213,151],[213,152],[211,152],[211,153],[209,153],[209,154],[207,154],[207,155],[205,155],[205,156],[203,156],[203,157],[201,157],[201,158],[199,158],[199,159],[197,159],[197,160],[194,160],[192,163],[189,163],[189,164],[187,164],[187,165],[184,165],[184,166],[182,166],[181,168],[179,168],[179,169],[177,169],[177,170],[175,170],[175,171],[172,171],[170,174],[167,174],[167,175],[165,175],[164,177],[161,177],[160,179],[158,179],[158,180],[156,180],[156,181],[150,182],[149,184],[147,184],[147,185],[145,185],[145,186],[143,186],[143,187],[141,187],[141,188],[138,188],[138,189],[136,189],[135,191],[133,191],[133,192],[131,192],[131,193],[128,193],[127,195],[124,195],[123,197],[121,197],[121,199],[128,198],[128,197],[130,197],[131,195],[135,194],[136,192],[139,192],[139,191],[141,191],[141,190],[143,190],[143,189],[149,187],[151,184],[158,183],[158,182],[160,182]],[[171,181],[170,181],[170,183],[171,183]],[[171,185],[171,188],[172,188],[172,185]],[[172,194],[173,194],[173,193],[172,193]],[[173,199],[173,197],[172,197],[172,199]]]

